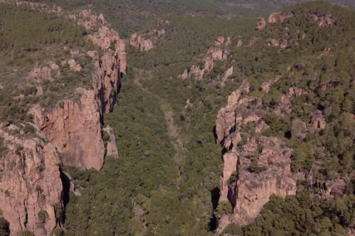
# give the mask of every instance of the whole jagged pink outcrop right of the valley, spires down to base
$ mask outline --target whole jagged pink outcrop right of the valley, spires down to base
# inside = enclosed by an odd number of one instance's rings
[[[291,173],[292,150],[277,137],[260,133],[269,128],[261,121],[260,98],[242,97],[249,84],[234,91],[216,119],[217,142],[226,150],[220,178],[219,202],[231,202],[233,212],[218,219],[217,235],[229,223],[249,224],[273,194],[285,197],[296,194],[296,180]],[[255,135],[244,133],[242,124],[258,122]],[[243,143],[241,144],[241,141]]]

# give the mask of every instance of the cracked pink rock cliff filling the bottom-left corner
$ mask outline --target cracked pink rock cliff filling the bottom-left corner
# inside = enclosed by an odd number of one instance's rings
[[[11,235],[28,230],[47,236],[61,224],[63,186],[60,158],[51,143],[18,139],[0,129],[8,149],[0,159],[0,209]]]

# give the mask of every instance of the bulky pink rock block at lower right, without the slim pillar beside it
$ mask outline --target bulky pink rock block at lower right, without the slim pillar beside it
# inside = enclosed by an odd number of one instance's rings
[[[264,170],[257,173],[258,170],[251,167],[253,163],[247,158],[251,150],[243,147],[239,157],[239,179],[231,187],[231,202],[234,206],[232,221],[240,225],[249,224],[255,219],[271,195],[286,197],[296,194],[296,180],[290,168],[291,149],[283,147],[283,142],[276,137],[261,136],[256,142],[251,141],[245,145],[251,144],[254,144],[254,148],[263,147],[261,154],[254,160]]]

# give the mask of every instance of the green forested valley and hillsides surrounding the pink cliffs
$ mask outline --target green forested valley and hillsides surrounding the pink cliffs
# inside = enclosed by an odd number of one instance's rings
[[[77,102],[77,87],[92,88],[95,59],[79,54],[105,50],[88,40],[97,25],[76,24],[73,15],[81,10],[103,13],[99,21],[118,31],[127,50],[127,73],[121,71],[122,85],[110,93],[117,92],[117,104],[100,117],[102,130],[113,129],[119,157],[106,155],[100,170],[60,164],[63,207],[55,206],[51,235],[354,235],[355,14],[346,9],[353,1],[31,2],[62,10],[0,4],[0,129],[50,143],[29,125],[35,123],[29,109],[39,104],[51,111],[64,99]],[[149,50],[132,43],[133,33],[151,40]],[[117,42],[110,43],[107,50],[117,50]],[[61,63],[70,57],[80,71]],[[33,68],[53,63],[54,80],[29,79]],[[221,141],[218,117],[236,91],[243,116],[258,116],[227,127]],[[235,123],[238,109],[231,111]],[[107,154],[108,133],[100,132]],[[237,142],[226,145],[228,138]],[[266,148],[274,151],[257,143],[263,138],[279,140],[284,156],[290,152],[295,191],[267,196],[255,220],[241,224],[232,195],[240,194],[242,174],[268,175],[277,165],[259,164]],[[4,145],[1,158],[10,152]],[[23,147],[15,149],[26,159]],[[244,155],[246,149],[252,151]],[[225,156],[233,153],[250,165],[223,180]],[[4,164],[0,174],[13,165]],[[226,201],[220,201],[223,181]],[[253,192],[257,184],[246,185]],[[35,188],[45,201],[43,189]],[[263,189],[255,191],[263,198]],[[48,213],[41,214],[45,222]],[[223,218],[229,218],[224,226]],[[5,214],[0,235],[9,235]]]

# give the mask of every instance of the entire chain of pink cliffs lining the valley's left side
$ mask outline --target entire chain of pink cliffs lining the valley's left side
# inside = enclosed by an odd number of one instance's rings
[[[17,5],[21,7],[23,3],[17,2]],[[34,10],[40,6],[42,11],[49,12],[44,4],[30,6]],[[86,28],[100,27],[98,33],[89,35],[87,40],[92,40],[104,53],[99,57],[96,51],[70,51],[73,59],[61,63],[61,68],[68,63],[71,71],[80,72],[82,66],[76,62],[86,54],[90,56],[93,60],[92,90],[76,87],[76,98],[59,100],[50,109],[33,105],[27,114],[33,116],[34,123],[23,122],[19,127],[0,123],[1,148],[5,150],[0,158],[0,209],[10,222],[11,235],[29,231],[45,236],[62,227],[65,186],[61,180],[61,166],[99,170],[104,163],[103,113],[112,111],[121,87],[121,76],[126,73],[125,45],[115,31],[107,28],[102,15],[82,11],[69,17]],[[115,49],[106,47],[107,42],[109,46],[114,44]],[[42,83],[42,86],[43,81],[55,83],[60,76],[60,66],[54,62],[48,65],[34,68],[25,79]],[[37,96],[47,92],[42,86],[38,86]],[[28,130],[35,135],[26,135]],[[113,132],[110,138],[113,141],[108,154],[118,157]]]

